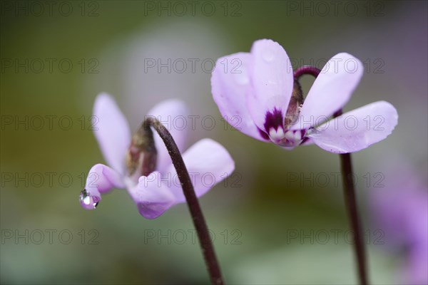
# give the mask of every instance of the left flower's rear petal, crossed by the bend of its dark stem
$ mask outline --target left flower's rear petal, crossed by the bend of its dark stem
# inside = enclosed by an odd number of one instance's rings
[[[187,115],[188,110],[183,101],[175,99],[162,101],[148,112],[148,116],[153,116],[160,120],[165,128],[169,130],[180,151],[183,150],[185,145]],[[171,164],[170,155],[168,154],[168,150],[166,150],[163,140],[156,131],[153,131],[153,138],[155,139],[156,150],[158,150],[156,170],[163,172]]]

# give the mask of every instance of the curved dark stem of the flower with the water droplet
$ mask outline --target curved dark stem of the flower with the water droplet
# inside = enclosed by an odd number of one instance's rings
[[[173,165],[177,171],[180,184],[183,187],[184,196],[193,219],[193,224],[195,226],[196,232],[198,232],[200,247],[202,248],[205,264],[210,274],[211,284],[223,284],[223,277],[221,276],[217,257],[215,257],[214,247],[210,239],[210,234],[208,233],[207,224],[205,223],[198,198],[196,197],[195,190],[193,189],[189,172],[185,167],[183,157],[181,156],[180,150],[178,150],[178,147],[175,144],[173,136],[170,135],[167,128],[165,128],[165,126],[155,118],[147,118],[143,123],[143,127],[148,132],[151,132],[150,127],[153,127],[156,132],[158,132],[159,136],[161,136],[163,143],[165,143],[165,147],[168,150],[171,160],[173,160]]]

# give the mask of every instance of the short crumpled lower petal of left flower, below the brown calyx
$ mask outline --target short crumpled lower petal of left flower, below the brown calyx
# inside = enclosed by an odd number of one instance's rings
[[[176,204],[173,193],[163,183],[158,171],[141,176],[138,185],[128,188],[128,192],[136,202],[138,212],[146,219],[156,219]]]

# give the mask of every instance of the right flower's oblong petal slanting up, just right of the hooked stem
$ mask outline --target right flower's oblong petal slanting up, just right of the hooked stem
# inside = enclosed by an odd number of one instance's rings
[[[300,118],[292,127],[307,129],[325,122],[350,100],[364,66],[349,53],[338,53],[327,61],[307,93]]]

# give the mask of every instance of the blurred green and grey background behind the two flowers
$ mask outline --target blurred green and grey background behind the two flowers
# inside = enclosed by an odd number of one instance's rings
[[[399,164],[414,167],[426,189],[427,2],[190,2],[1,1],[1,283],[209,282],[185,204],[155,220],[141,217],[122,190],[103,196],[95,211],[79,205],[82,175],[105,163],[88,130],[93,100],[105,91],[133,130],[165,98],[215,118],[213,130],[197,120],[188,146],[213,138],[235,159],[235,176],[200,199],[227,283],[356,284],[342,186],[334,182],[339,157],[250,139],[225,128],[213,103],[210,63],[272,38],[295,68],[312,61],[322,68],[342,51],[360,58],[366,72],[345,110],[375,100],[397,108],[394,133],[352,157],[371,279],[400,284],[406,254],[374,242],[381,228],[369,200],[378,190],[373,175],[381,172],[387,185]],[[144,58],[199,61],[194,72],[188,65],[168,73],[145,70]],[[312,81],[303,79],[304,92]]]

